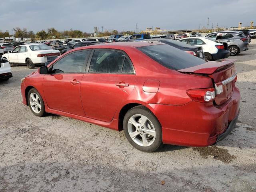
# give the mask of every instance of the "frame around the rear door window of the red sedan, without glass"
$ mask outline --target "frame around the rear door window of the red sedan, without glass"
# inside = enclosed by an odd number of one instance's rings
[[[90,63],[91,63],[91,60],[92,60],[92,56],[94,54],[94,52],[96,50],[109,50],[109,51],[118,51],[118,52],[122,52],[122,54],[124,54],[124,56],[129,60],[130,64],[132,64],[132,68],[133,68],[133,72],[134,73],[122,73],[122,71],[120,73],[96,73],[96,72],[89,72],[89,68],[90,68]],[[122,70],[123,70],[123,67],[124,67],[124,61],[125,59],[123,60],[123,63],[122,63]],[[134,68],[134,65],[132,63],[132,60],[130,59],[130,57],[128,56],[128,54],[126,54],[126,52],[124,52],[123,50],[120,50],[120,49],[110,49],[110,48],[94,48],[91,52],[91,55],[88,59],[88,62],[86,64],[86,70],[85,70],[85,73],[90,73],[90,74],[130,74],[130,75],[136,75],[136,71],[135,71],[135,68]]]

